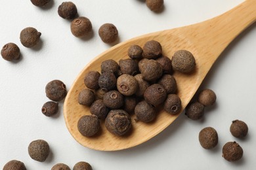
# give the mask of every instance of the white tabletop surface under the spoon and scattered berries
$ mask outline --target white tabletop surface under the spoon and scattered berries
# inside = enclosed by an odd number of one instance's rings
[[[217,103],[205,109],[201,121],[192,121],[181,114],[171,126],[150,141],[116,152],[85,148],[75,141],[66,128],[63,102],[53,118],[41,113],[47,82],[59,79],[67,88],[95,56],[110,48],[98,37],[100,25],[110,22],[119,31],[119,42],[133,37],[202,22],[242,3],[242,0],[165,0],[161,13],[150,11],[139,0],[72,0],[79,16],[93,24],[87,39],[77,39],[70,31],[70,21],[58,16],[54,0],[45,9],[29,0],[1,0],[0,45],[14,42],[22,58],[8,62],[0,58],[0,168],[9,160],[23,161],[28,170],[51,169],[66,163],[72,169],[78,161],[88,161],[100,169],[255,169],[256,167],[256,27],[249,27],[221,54],[205,78],[202,88],[217,94]],[[256,10],[256,9],[255,9]],[[35,48],[25,48],[20,31],[35,27],[42,33]],[[245,139],[236,139],[229,132],[232,120],[244,120],[249,126]],[[213,150],[200,146],[198,133],[212,126],[219,133],[219,144]],[[28,155],[28,144],[44,139],[51,147],[43,163]],[[230,163],[221,157],[222,147],[237,141],[244,149],[242,160]]]

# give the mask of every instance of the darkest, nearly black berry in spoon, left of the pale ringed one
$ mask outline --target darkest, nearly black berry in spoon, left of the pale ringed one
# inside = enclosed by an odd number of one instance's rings
[[[116,76],[112,71],[105,71],[98,78],[98,86],[103,90],[112,90],[116,87]]]

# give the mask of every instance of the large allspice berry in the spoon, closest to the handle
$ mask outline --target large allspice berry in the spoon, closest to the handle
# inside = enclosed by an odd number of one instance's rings
[[[173,55],[171,65],[175,71],[190,73],[196,68],[196,60],[191,52],[179,50]]]

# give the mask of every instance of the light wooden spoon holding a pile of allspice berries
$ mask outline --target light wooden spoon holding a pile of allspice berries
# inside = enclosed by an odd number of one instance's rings
[[[129,41],[121,42],[93,59],[82,71],[70,88],[64,102],[64,118],[68,130],[74,139],[88,148],[95,150],[122,150],[144,143],[158,135],[169,126],[179,114],[173,116],[160,110],[156,121],[145,124],[135,122],[132,116],[133,129],[129,135],[117,137],[106,130],[104,122],[101,131],[95,137],[84,137],[77,130],[77,121],[85,114],[91,114],[89,107],[77,103],[78,93],[85,88],[83,78],[89,71],[100,71],[100,63],[106,59],[128,58],[127,50],[132,44],[143,46],[146,41],[159,41],[163,47],[163,56],[171,56],[177,50],[185,49],[196,58],[196,71],[190,75],[174,73],[181,97],[182,110],[186,107],[194,93],[205,78],[205,75],[220,56],[221,52],[246,27],[256,20],[256,0],[247,0],[232,10],[198,24],[188,25],[156,33],[149,33]]]

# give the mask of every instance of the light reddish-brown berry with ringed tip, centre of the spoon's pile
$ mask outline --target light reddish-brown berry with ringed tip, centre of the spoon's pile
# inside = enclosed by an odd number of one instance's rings
[[[133,95],[137,92],[138,82],[134,76],[121,75],[117,78],[117,90],[123,95]]]

